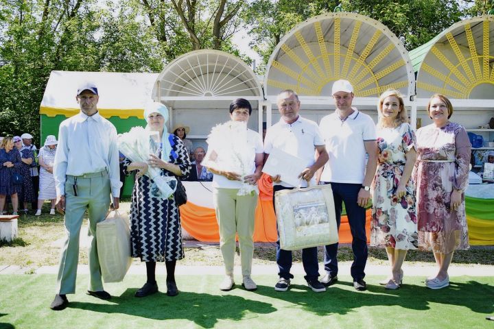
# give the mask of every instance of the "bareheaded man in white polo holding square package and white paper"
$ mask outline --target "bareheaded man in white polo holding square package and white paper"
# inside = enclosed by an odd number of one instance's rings
[[[317,124],[298,115],[300,104],[298,95],[293,90],[283,90],[279,93],[277,105],[281,119],[266,132],[264,152],[266,153],[265,160],[268,159],[273,148],[281,149],[287,154],[305,160],[307,167],[298,177],[303,180],[302,187],[307,187],[307,182],[315,184],[315,180],[313,180],[314,173],[327,162],[328,155]],[[316,151],[318,159],[314,160]],[[294,188],[294,186],[281,180],[283,178],[280,175],[272,177],[273,193]],[[302,263],[306,273],[305,280],[307,280],[309,288],[315,292],[326,291],[326,288],[318,281],[317,247],[302,249]],[[277,239],[277,264],[279,267],[279,281],[274,286],[274,289],[287,291],[290,286],[290,279],[294,278],[290,273],[292,252],[280,248],[279,236]]]

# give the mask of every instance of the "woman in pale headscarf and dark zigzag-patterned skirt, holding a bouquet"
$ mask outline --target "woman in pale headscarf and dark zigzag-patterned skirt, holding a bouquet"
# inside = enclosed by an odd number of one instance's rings
[[[167,132],[165,123],[168,120],[168,110],[163,104],[152,103],[147,106],[144,118],[148,122],[147,129],[158,132],[160,141],[150,141],[157,151],[150,154],[147,163],[130,162],[128,158],[123,162],[127,172],[139,171],[132,191],[130,243],[132,257],[139,257],[146,263],[148,280],[135,296],[145,297],[158,291],[156,262],[165,262],[167,295],[175,296],[178,295],[175,282],[176,260],[184,257],[180,211],[174,195],[162,199],[161,195],[156,194],[153,180],[144,174],[148,171],[148,166],[151,166],[161,168],[162,176],[187,176],[191,163],[180,138]]]

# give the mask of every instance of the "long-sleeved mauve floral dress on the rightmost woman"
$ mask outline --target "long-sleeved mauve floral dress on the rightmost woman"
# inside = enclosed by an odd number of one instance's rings
[[[419,246],[449,254],[468,249],[464,193],[457,210],[451,210],[451,192],[468,185],[471,145],[464,127],[427,125],[417,130],[417,161],[413,176],[417,184]]]

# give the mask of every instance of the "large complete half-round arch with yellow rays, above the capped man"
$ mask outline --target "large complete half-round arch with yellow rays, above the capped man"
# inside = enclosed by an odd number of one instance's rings
[[[292,29],[274,49],[266,95],[293,89],[301,96],[331,96],[331,86],[349,80],[357,97],[379,97],[388,88],[414,95],[414,71],[401,41],[369,17],[323,14]]]

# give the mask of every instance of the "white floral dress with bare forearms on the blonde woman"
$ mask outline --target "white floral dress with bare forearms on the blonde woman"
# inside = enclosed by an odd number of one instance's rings
[[[405,153],[415,147],[415,134],[408,123],[377,128],[379,158],[373,186],[371,245],[396,249],[418,247],[415,186],[410,179],[406,194],[395,194],[405,169]]]

